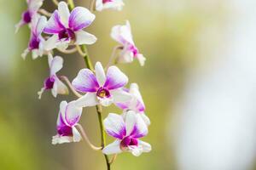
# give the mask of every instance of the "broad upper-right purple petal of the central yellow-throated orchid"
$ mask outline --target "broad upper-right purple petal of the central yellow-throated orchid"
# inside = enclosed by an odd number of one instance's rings
[[[116,66],[110,66],[107,72],[107,80],[104,84],[104,88],[108,88],[109,90],[122,88],[128,82],[128,77],[119,70]]]

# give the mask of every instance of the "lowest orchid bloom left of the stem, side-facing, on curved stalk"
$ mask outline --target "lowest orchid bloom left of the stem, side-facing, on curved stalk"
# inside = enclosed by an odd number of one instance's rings
[[[59,116],[57,119],[57,134],[52,137],[52,144],[63,144],[69,142],[79,142],[82,138],[75,127],[82,115],[82,108],[72,101],[61,101]]]

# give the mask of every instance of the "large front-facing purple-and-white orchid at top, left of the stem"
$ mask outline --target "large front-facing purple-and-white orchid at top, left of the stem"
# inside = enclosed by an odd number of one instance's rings
[[[81,45],[96,42],[94,35],[83,31],[94,19],[95,15],[87,8],[76,7],[70,13],[67,3],[59,3],[58,10],[51,15],[44,28],[44,33],[52,35],[45,42],[45,49],[66,49],[70,43]]]

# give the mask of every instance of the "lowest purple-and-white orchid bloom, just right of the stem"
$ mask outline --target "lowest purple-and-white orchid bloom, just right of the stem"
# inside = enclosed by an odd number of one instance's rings
[[[140,140],[148,134],[148,127],[134,111],[128,111],[125,120],[123,116],[110,113],[104,120],[104,126],[108,135],[116,139],[102,150],[104,154],[129,151],[134,156],[140,156],[151,150],[150,144]]]

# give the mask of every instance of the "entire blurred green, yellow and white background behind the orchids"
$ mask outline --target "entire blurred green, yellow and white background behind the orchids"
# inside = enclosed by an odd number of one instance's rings
[[[77,0],[88,7],[90,1]],[[48,76],[47,58],[21,59],[29,30],[15,34],[25,0],[0,0],[0,169],[102,170],[102,154],[77,144],[52,145],[61,100],[37,92]],[[44,7],[55,6],[45,0]],[[116,45],[112,26],[130,20],[134,40],[147,57],[119,65],[141,87],[152,125],[144,139],[153,150],[124,153],[113,170],[249,170],[256,150],[256,2],[254,0],[125,0],[122,12],[96,12],[87,31],[98,37],[91,59],[108,63]],[[61,55],[61,54],[60,54]],[[76,54],[64,57],[71,80],[84,68]],[[104,110],[118,112],[115,107]],[[94,144],[100,133],[94,108],[81,124]],[[108,139],[111,142],[113,139]],[[254,168],[255,169],[255,168]]]

